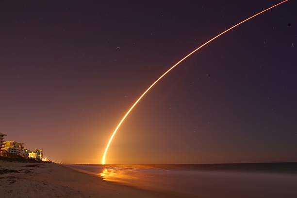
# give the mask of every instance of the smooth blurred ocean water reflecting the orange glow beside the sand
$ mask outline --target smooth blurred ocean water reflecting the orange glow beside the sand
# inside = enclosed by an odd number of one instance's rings
[[[63,165],[106,181],[184,197],[297,198],[297,163]]]

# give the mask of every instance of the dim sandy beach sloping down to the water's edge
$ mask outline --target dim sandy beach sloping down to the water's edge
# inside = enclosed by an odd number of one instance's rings
[[[165,198],[59,164],[0,162],[1,198]],[[182,197],[182,196],[181,196]]]

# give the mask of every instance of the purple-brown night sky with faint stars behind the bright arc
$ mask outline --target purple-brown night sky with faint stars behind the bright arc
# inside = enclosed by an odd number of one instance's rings
[[[1,1],[0,132],[100,163],[174,63],[279,0]],[[133,109],[107,163],[297,162],[297,1],[202,48]]]

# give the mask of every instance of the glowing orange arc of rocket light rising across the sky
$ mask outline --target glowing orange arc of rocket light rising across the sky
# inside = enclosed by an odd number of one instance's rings
[[[158,83],[158,82],[159,82],[159,81],[160,81],[160,80],[161,80],[161,79],[162,79],[168,72],[170,72],[171,70],[173,70],[173,68],[175,68],[177,65],[179,65],[179,64],[180,64],[182,61],[184,61],[187,57],[189,57],[190,55],[194,54],[194,53],[197,52],[199,49],[201,49],[202,47],[204,47],[204,46],[207,45],[208,43],[212,42],[214,39],[218,38],[219,36],[224,35],[225,33],[229,32],[229,31],[232,30],[233,28],[235,28],[235,27],[241,25],[242,23],[247,22],[249,19],[255,18],[255,17],[257,17],[258,15],[260,15],[260,14],[262,14],[262,13],[264,13],[264,12],[266,12],[266,11],[268,11],[268,10],[270,10],[270,9],[272,9],[272,8],[274,8],[274,7],[276,7],[276,6],[281,5],[282,3],[286,2],[286,1],[288,1],[288,0],[281,1],[281,2],[278,3],[278,4],[275,4],[275,5],[273,5],[273,6],[269,7],[269,8],[267,8],[267,9],[265,9],[265,10],[263,10],[263,11],[257,13],[257,14],[255,14],[255,15],[253,15],[253,16],[251,16],[251,17],[249,17],[249,18],[247,18],[247,19],[245,19],[245,20],[243,20],[243,21],[237,23],[236,25],[233,25],[231,28],[225,30],[224,32],[220,33],[219,35],[214,36],[212,39],[210,39],[210,40],[207,41],[206,43],[204,43],[204,44],[202,44],[201,46],[199,46],[198,48],[196,48],[196,49],[195,49],[194,51],[192,51],[190,54],[184,56],[179,62],[177,62],[175,65],[173,65],[171,68],[169,68],[169,69],[168,69],[165,73],[163,73],[157,80],[155,80],[155,81],[153,82],[153,84],[151,84],[151,85],[148,87],[148,89],[145,90],[145,92],[143,92],[143,94],[136,100],[136,102],[135,102],[135,103],[132,105],[132,107],[126,112],[126,114],[124,115],[124,117],[121,119],[121,121],[120,121],[120,122],[118,123],[118,125],[116,126],[115,131],[113,132],[112,136],[110,137],[110,139],[109,139],[109,141],[108,141],[108,143],[107,143],[107,145],[106,145],[106,148],[105,148],[105,151],[104,151],[104,154],[103,154],[103,157],[102,157],[102,164],[105,164],[105,157],[106,157],[106,153],[107,153],[107,150],[108,150],[108,148],[109,148],[109,145],[111,144],[113,138],[115,137],[115,133],[116,133],[116,131],[117,131],[117,130],[119,129],[119,127],[122,125],[122,123],[124,122],[124,120],[126,119],[126,117],[129,115],[129,113],[132,111],[132,109],[137,105],[137,103],[138,103],[138,102],[139,102],[139,101],[140,101],[140,100],[147,94],[147,92],[148,92],[154,85],[156,85],[156,83]]]

